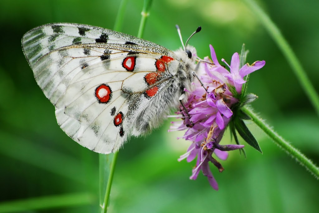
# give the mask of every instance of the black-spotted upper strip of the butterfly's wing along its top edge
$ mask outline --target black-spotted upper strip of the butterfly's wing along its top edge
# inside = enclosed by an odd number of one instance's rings
[[[28,31],[22,38],[22,48],[33,68],[35,62],[52,50],[64,46],[87,43],[137,44],[161,47],[150,41],[121,32],[85,24],[45,24]]]

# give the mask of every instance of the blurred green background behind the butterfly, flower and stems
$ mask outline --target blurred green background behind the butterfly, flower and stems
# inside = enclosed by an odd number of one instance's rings
[[[319,2],[258,2],[278,24],[319,90]],[[21,38],[41,24],[74,22],[112,29],[120,1],[1,0],[0,64],[0,201],[56,196],[52,207],[23,212],[99,212],[98,154],[72,141],[56,123],[54,106],[37,86],[23,55]],[[143,1],[130,0],[122,32],[137,35]],[[265,60],[250,76],[252,104],[273,128],[317,165],[319,119],[277,45],[253,13],[236,0],[153,1],[144,39],[168,49],[179,48],[175,24],[191,39],[201,58],[212,44],[219,60],[230,63],[242,43],[247,62]],[[291,159],[254,124],[248,123],[263,155],[247,147],[247,159],[230,152],[219,173],[211,167],[219,191],[200,174],[189,180],[195,162],[177,162],[189,142],[167,133],[169,121],[152,134],[131,139],[120,150],[109,212],[318,212],[319,182]],[[230,143],[229,132],[223,144]],[[65,197],[61,197],[64,195]],[[55,208],[59,202],[64,207]],[[3,206],[2,206],[3,207]],[[3,212],[4,208],[0,212]]]

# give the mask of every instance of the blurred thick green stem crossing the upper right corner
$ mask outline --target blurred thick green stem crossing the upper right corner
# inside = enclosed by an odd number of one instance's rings
[[[256,4],[254,0],[245,0],[249,8],[255,13],[255,15],[260,19],[263,26],[266,28],[268,33],[277,43],[279,49],[282,51],[286,60],[290,64],[292,70],[294,71],[299,83],[305,93],[308,95],[312,105],[315,107],[315,110],[319,116],[319,96],[315,91],[315,88],[312,86],[311,81],[309,80],[306,72],[301,66],[300,61],[297,56],[294,54],[292,48],[289,46],[288,42],[281,34],[278,27],[271,21],[270,17]]]

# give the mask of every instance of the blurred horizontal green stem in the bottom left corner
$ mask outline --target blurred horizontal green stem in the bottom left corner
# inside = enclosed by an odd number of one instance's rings
[[[34,210],[51,210],[79,205],[90,205],[96,202],[91,193],[72,193],[64,195],[51,195],[33,197],[23,200],[14,200],[0,203],[0,213],[33,212]]]

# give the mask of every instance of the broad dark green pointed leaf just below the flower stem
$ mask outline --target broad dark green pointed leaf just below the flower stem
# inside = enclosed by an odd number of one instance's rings
[[[239,135],[253,148],[255,148],[256,150],[258,150],[259,152],[263,153],[261,151],[261,148],[258,144],[258,142],[256,141],[256,139],[254,138],[253,134],[251,134],[251,132],[249,131],[249,129],[247,128],[246,124],[244,123],[243,120],[239,119],[239,118],[235,118],[234,120],[234,125],[236,127],[236,130],[238,131]]]

